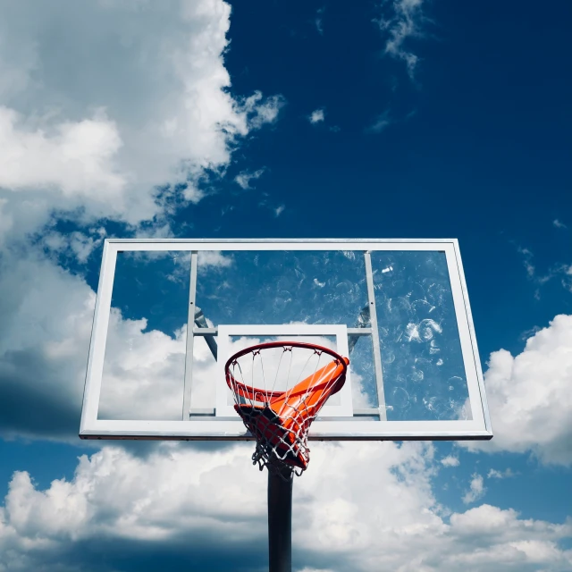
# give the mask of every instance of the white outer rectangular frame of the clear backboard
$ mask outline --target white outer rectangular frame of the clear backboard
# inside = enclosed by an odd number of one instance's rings
[[[181,421],[103,420],[97,419],[105,357],[105,342],[109,325],[114,271],[117,254],[121,251],[178,250],[197,253],[200,250],[361,250],[364,252],[428,250],[446,255],[450,286],[457,315],[458,333],[466,368],[467,390],[471,420],[448,421],[387,421],[371,420],[367,415],[345,420],[330,420],[321,416],[310,428],[310,440],[474,440],[491,439],[484,380],[475,339],[475,328],[468,301],[467,284],[455,239],[298,239],[298,240],[207,240],[207,239],[106,239],[102,259],[97,302],[94,315],[88,368],[80,423],[82,439],[155,439],[155,440],[252,440],[240,419],[221,417]],[[196,254],[195,254],[196,256]],[[371,302],[374,305],[374,302]],[[190,315],[190,311],[189,311]],[[374,330],[372,324],[372,330]],[[191,324],[192,327],[192,324]],[[374,345],[375,345],[374,335]],[[379,343],[379,342],[378,342]],[[366,412],[367,413],[367,412]],[[371,412],[370,412],[371,413]],[[185,414],[183,413],[183,417]]]

